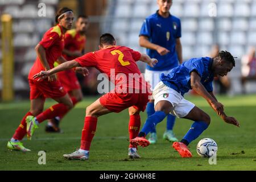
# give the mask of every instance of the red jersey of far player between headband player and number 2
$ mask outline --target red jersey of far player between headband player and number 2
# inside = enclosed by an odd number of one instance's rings
[[[80,51],[84,50],[85,48],[85,42],[86,42],[86,36],[80,35],[79,32],[77,32],[75,29],[69,30],[65,34],[65,49],[68,51]],[[76,57],[68,56],[63,54],[65,59],[73,60],[76,59]]]

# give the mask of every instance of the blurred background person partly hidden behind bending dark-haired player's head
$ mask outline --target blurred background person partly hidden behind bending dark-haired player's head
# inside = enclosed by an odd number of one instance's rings
[[[218,44],[215,44],[212,46],[212,51],[210,52],[209,57],[217,57],[219,52],[220,46],[218,46]],[[214,84],[216,84],[218,87],[218,94],[227,94],[229,89],[231,88],[231,82],[228,75],[214,77]]]

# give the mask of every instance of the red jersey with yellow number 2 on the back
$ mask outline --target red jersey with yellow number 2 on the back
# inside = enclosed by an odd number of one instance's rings
[[[120,85],[141,90],[141,88],[145,88],[146,81],[135,63],[140,58],[141,53],[138,51],[125,46],[110,46],[96,52],[86,53],[75,61],[81,67],[95,67],[100,72],[106,73],[115,86]],[[126,78],[123,77],[124,75]],[[138,82],[139,84],[137,84]]]

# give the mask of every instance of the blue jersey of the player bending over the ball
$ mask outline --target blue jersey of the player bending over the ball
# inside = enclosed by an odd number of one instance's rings
[[[185,61],[179,67],[172,69],[168,75],[160,76],[165,85],[176,90],[182,96],[191,89],[190,73],[196,71],[201,77],[201,84],[208,92],[213,91],[213,73],[211,71],[213,59],[210,57],[193,58]]]

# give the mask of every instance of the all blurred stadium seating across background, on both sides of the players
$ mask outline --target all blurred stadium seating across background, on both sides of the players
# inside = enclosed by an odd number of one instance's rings
[[[47,5],[47,16],[44,18],[40,18],[37,14],[40,2]],[[26,75],[25,72],[29,71],[35,59],[36,43],[53,24],[58,2],[58,0],[0,0],[0,12],[9,13],[14,18],[14,46],[17,59],[15,61],[23,71],[22,75]],[[209,16],[212,8],[210,5],[216,5],[216,17]],[[146,52],[138,44],[138,35],[144,18],[158,10],[156,1],[109,1],[108,9],[104,23],[101,25],[102,32],[112,33],[118,44]],[[208,55],[210,47],[219,44],[221,49],[234,53],[239,62],[249,46],[256,46],[255,0],[179,0],[173,2],[171,14],[181,19],[184,60]],[[143,71],[143,64],[139,67]],[[236,67],[236,70],[239,69],[241,68]]]

